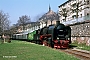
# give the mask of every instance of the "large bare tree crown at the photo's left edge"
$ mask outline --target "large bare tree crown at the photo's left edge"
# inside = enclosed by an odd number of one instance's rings
[[[5,30],[9,30],[9,15],[0,10],[0,34],[4,34]]]

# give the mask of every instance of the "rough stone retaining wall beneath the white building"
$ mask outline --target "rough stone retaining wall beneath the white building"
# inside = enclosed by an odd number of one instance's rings
[[[70,27],[72,43],[77,41],[78,44],[86,43],[86,45],[90,46],[90,22],[72,25]]]

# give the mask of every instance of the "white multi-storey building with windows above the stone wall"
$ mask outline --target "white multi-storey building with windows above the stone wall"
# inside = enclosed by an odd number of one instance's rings
[[[90,0],[68,0],[58,8],[59,20],[64,24],[82,22],[90,16]]]

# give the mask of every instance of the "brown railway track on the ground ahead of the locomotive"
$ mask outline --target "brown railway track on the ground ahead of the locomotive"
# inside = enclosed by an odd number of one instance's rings
[[[90,52],[85,51],[85,50],[79,50],[79,49],[66,49],[66,50],[61,50],[63,52],[73,54],[77,58],[80,58],[80,60],[90,60]]]

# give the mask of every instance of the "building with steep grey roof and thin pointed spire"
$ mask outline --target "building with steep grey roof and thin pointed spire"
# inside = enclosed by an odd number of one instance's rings
[[[58,20],[58,14],[52,11],[49,5],[49,11],[45,13],[41,18],[39,18],[40,28],[49,26],[51,24],[56,24],[56,20]]]

